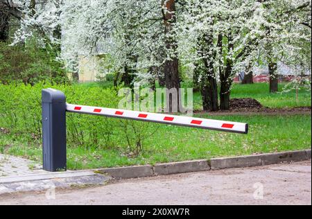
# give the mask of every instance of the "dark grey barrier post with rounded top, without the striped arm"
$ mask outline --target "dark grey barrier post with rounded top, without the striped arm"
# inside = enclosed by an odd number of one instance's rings
[[[42,90],[42,138],[44,170],[66,170],[66,96],[61,91]]]

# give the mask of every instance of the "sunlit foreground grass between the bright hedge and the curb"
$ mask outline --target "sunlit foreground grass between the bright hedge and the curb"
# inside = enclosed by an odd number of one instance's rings
[[[207,116],[202,116],[208,118]],[[311,148],[311,115],[213,116],[209,119],[250,124],[249,134],[232,134],[151,123],[159,130],[144,143],[144,152],[127,156],[127,149],[69,147],[69,169],[104,168],[159,162],[209,159]],[[41,161],[40,141],[0,134],[0,153]]]

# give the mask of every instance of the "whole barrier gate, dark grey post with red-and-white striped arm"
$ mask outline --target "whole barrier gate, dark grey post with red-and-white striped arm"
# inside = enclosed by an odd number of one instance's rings
[[[43,168],[55,172],[67,169],[66,159],[66,112],[92,114],[132,119],[168,125],[180,125],[191,128],[202,128],[223,132],[248,134],[248,124],[211,119],[199,119],[187,116],[135,112],[123,109],[89,107],[66,103],[66,96],[55,89],[42,90],[42,137],[43,137]]]

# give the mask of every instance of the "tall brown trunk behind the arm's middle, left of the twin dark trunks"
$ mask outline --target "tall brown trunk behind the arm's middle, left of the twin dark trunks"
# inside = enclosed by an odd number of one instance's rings
[[[166,89],[176,89],[177,100],[173,100],[170,92],[167,92],[167,98],[169,99],[169,112],[173,112],[173,109],[182,109],[180,104],[180,76],[179,76],[179,60],[177,59],[177,43],[171,36],[173,24],[176,23],[175,17],[175,0],[162,0],[162,6],[166,7],[166,10],[162,10],[164,16],[164,26],[166,37],[166,48],[174,51],[175,55],[171,57],[171,60],[166,60],[164,64],[164,79]],[[177,104],[177,106],[174,106]],[[182,110],[181,110],[182,111]]]

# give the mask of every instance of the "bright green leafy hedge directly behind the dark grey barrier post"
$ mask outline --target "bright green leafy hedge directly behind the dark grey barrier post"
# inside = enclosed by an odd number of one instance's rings
[[[120,98],[113,88],[79,85],[0,85],[0,128],[30,140],[42,138],[41,91],[51,87],[64,91],[67,103],[117,108]],[[67,113],[67,143],[71,148],[122,148],[139,155],[150,135],[149,125],[103,116]],[[1,132],[0,132],[1,134]]]

